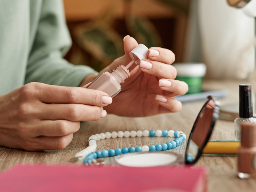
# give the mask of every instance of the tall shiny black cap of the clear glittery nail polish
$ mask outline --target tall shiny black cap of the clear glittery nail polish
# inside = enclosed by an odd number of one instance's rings
[[[252,85],[239,85],[239,117],[252,117]]]

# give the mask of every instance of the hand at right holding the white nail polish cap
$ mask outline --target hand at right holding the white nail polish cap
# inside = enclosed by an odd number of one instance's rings
[[[100,74],[105,71],[112,73],[119,65],[126,66],[131,61],[129,52],[137,45],[134,38],[124,37],[125,55],[114,60]],[[172,97],[188,92],[188,85],[174,80],[177,74],[171,65],[175,60],[174,53],[168,49],[151,47],[148,58],[141,60],[139,66],[133,64],[129,68],[131,76],[121,84],[121,92],[113,98],[111,105],[104,107],[107,113],[142,117],[181,110],[181,102]]]

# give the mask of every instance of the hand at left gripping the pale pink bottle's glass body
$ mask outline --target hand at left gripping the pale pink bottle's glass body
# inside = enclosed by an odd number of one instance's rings
[[[106,116],[107,93],[81,87],[29,83],[0,95],[0,146],[27,151],[60,150],[80,121]]]

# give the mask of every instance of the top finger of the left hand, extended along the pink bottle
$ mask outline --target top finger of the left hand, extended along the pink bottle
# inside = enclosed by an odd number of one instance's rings
[[[103,107],[112,103],[105,92],[82,87],[37,84],[36,95],[44,103],[76,103]]]

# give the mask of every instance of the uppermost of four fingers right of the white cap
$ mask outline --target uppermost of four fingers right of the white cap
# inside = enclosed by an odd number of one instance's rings
[[[171,50],[160,47],[149,48],[148,58],[169,65],[175,61],[175,55]]]

